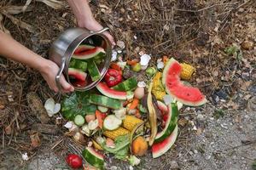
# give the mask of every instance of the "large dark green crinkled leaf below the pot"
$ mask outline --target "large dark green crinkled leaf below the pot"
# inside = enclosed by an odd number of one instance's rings
[[[61,113],[67,120],[73,121],[77,115],[85,116],[91,114],[92,109],[96,110],[96,105],[89,104],[89,96],[85,92],[73,93],[61,102]]]

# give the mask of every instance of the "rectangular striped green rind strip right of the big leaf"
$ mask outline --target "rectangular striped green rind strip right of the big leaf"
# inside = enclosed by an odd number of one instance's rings
[[[107,96],[91,94],[89,99],[90,104],[101,105],[110,109],[118,110],[122,107],[122,102],[119,99],[111,99]]]

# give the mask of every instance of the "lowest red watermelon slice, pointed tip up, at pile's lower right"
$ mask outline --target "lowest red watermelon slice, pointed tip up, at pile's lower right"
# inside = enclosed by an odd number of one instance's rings
[[[156,143],[152,145],[153,158],[164,155],[166,151],[172,148],[172,145],[175,143],[176,139],[177,139],[177,125],[170,136],[168,136],[166,139],[164,139],[160,143]]]

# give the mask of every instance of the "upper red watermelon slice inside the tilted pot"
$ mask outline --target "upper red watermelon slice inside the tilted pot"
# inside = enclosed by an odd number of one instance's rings
[[[98,55],[106,54],[105,50],[101,47],[93,47],[90,45],[79,45],[73,52],[74,59],[90,59]]]

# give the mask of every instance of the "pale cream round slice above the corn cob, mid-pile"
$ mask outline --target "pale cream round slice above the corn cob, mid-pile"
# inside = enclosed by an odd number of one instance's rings
[[[122,121],[114,115],[109,115],[104,119],[103,127],[106,130],[115,130],[120,127]]]

